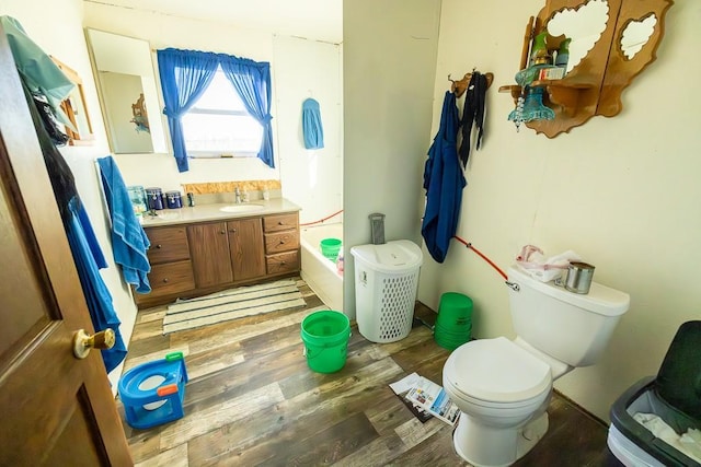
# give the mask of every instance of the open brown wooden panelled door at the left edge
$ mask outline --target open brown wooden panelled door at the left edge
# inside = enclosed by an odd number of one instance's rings
[[[2,27],[0,102],[0,465],[131,465]]]

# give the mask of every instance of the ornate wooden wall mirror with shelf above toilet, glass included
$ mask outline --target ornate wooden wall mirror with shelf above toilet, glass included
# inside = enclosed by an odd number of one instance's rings
[[[657,58],[665,13],[673,3],[673,0],[547,0],[526,27],[519,73],[522,78],[525,71],[532,71],[529,58],[533,39],[545,33],[547,50],[554,56],[568,39],[570,59],[564,77],[552,79],[536,70],[538,73],[527,74],[536,77],[528,80],[529,84],[502,86],[499,92],[512,94],[517,105],[515,112],[521,112],[526,94],[542,95],[543,106],[552,109],[548,110],[552,119],[526,120],[525,125],[548,138],[568,132],[595,115],[618,115],[623,108],[623,90]]]

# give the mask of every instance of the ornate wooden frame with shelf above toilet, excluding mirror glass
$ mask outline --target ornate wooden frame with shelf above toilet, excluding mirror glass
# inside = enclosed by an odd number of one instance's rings
[[[565,9],[578,10],[597,0],[547,0],[536,21],[532,17],[524,38],[521,67],[528,62],[528,50],[536,35],[547,28],[548,22]],[[606,0],[608,21],[594,47],[582,61],[560,80],[533,81],[531,86],[543,87],[543,104],[555,113],[553,120],[526,122],[529,128],[548,138],[586,122],[595,115],[612,117],[623,108],[621,93],[645,67],[657,58],[656,50],[664,34],[664,17],[673,0]],[[647,42],[632,58],[623,54],[621,40],[630,24],[640,23],[654,14],[656,23]],[[530,25],[532,24],[532,27]],[[530,32],[530,34],[529,34]],[[548,49],[556,50],[564,36],[548,37]],[[521,86],[506,85],[499,92],[509,92],[514,102],[521,95]]]

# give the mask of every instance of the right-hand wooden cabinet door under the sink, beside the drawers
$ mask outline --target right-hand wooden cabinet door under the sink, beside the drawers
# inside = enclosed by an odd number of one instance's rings
[[[261,219],[229,221],[227,227],[233,279],[242,281],[265,276]]]

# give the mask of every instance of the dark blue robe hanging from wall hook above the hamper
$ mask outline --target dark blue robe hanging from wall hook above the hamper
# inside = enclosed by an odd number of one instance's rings
[[[440,127],[428,150],[428,160],[424,168],[426,212],[421,227],[426,248],[438,262],[446,259],[450,240],[458,229],[462,189],[468,184],[458,157],[459,128],[456,95],[447,91],[440,114]]]

